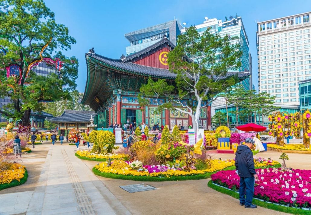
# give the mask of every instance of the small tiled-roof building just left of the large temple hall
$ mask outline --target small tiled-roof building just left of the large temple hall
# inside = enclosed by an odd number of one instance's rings
[[[46,120],[58,124],[58,134],[66,136],[72,128],[76,128],[80,132],[86,132],[91,116],[95,116],[94,111],[64,110],[61,116],[47,117]]]

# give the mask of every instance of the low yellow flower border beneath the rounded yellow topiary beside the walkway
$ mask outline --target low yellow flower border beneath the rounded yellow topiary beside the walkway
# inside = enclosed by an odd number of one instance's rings
[[[94,161],[106,161],[107,159],[122,159],[126,155],[125,154],[114,154],[114,153],[108,153],[108,154],[96,154],[91,153],[89,150],[78,150],[76,152],[76,156],[80,159],[84,160],[94,160]]]

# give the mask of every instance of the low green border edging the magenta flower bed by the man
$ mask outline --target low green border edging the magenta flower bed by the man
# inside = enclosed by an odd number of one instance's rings
[[[230,196],[232,196],[235,199],[239,199],[239,194],[238,193],[236,193],[233,190],[228,190],[228,189],[225,189],[223,187],[214,185],[212,183],[212,181],[209,181],[207,183],[207,186],[210,187],[213,190],[216,190],[216,191],[220,192],[220,193],[230,195]],[[306,210],[303,210],[303,209],[284,207],[284,206],[275,205],[275,204],[272,204],[272,203],[262,202],[262,201],[259,201],[257,199],[253,199],[253,203],[258,205],[258,206],[260,206],[260,207],[263,207],[263,208],[268,208],[268,209],[271,209],[271,210],[280,211],[280,212],[284,212],[284,213],[303,214],[303,215],[304,214],[311,214],[310,211],[306,211]]]

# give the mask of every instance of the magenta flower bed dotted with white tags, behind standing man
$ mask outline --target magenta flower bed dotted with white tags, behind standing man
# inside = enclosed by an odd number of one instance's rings
[[[295,207],[311,206],[311,170],[286,170],[268,168],[256,169],[259,180],[256,181],[254,197],[274,203],[291,203]],[[211,180],[234,190],[239,189],[240,177],[235,170],[219,171],[211,175]]]

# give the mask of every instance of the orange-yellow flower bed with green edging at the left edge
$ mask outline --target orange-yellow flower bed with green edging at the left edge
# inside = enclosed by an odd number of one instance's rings
[[[25,183],[27,176],[25,166],[12,164],[8,170],[0,171],[0,190]]]

